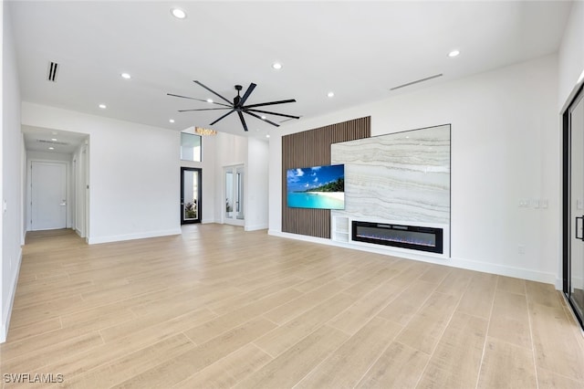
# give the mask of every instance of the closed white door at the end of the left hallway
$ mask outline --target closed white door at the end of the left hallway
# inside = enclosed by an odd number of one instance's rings
[[[33,231],[67,227],[67,163],[31,164]]]

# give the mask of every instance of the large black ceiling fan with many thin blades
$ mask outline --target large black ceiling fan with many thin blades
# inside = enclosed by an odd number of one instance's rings
[[[276,105],[276,104],[286,104],[288,102],[296,102],[296,100],[294,99],[289,99],[289,100],[278,100],[278,101],[268,101],[268,102],[262,102],[259,104],[250,104],[250,105],[245,105],[245,101],[249,98],[249,95],[252,94],[252,92],[254,91],[255,87],[257,85],[255,85],[253,82],[251,84],[249,84],[249,87],[247,87],[247,90],[245,90],[245,93],[243,96],[239,96],[239,92],[243,89],[243,87],[241,85],[235,85],[235,90],[237,90],[237,96],[235,96],[233,102],[230,100],[225,99],[223,96],[221,96],[219,93],[215,92],[213,89],[210,89],[206,86],[203,85],[203,83],[199,82],[199,81],[193,81],[195,84],[200,85],[201,87],[203,87],[204,89],[209,90],[211,93],[213,93],[215,96],[221,98],[222,100],[226,101],[227,104],[223,103],[223,102],[216,102],[213,100],[202,100],[202,99],[195,99],[192,97],[188,97],[188,96],[181,96],[181,95],[175,95],[172,93],[167,93],[168,96],[173,96],[173,97],[178,97],[178,98],[183,98],[183,99],[189,99],[189,100],[197,100],[197,101],[204,101],[204,102],[210,102],[216,105],[221,105],[222,108],[202,108],[202,109],[195,109],[195,110],[229,110],[227,113],[225,113],[222,117],[220,117],[219,119],[217,119],[216,121],[210,123],[209,125],[212,126],[214,125],[214,123],[216,123],[217,121],[221,121],[224,118],[226,118],[227,116],[231,115],[234,112],[237,112],[237,115],[239,115],[239,120],[241,121],[242,126],[244,126],[244,130],[247,131],[247,124],[245,123],[245,119],[244,119],[244,113],[247,113],[248,115],[251,115],[261,121],[266,121],[270,124],[272,124],[273,126],[279,127],[280,125],[277,124],[274,121],[269,121],[266,119],[266,116],[259,116],[256,113],[267,113],[270,115],[276,115],[276,116],[283,116],[285,118],[290,118],[290,119],[300,119],[299,116],[294,116],[294,115],[287,115],[284,113],[277,113],[277,112],[272,112],[269,110],[256,110],[256,108],[258,107],[265,107],[267,105]],[[179,112],[188,112],[188,111],[193,111],[193,110],[179,110]],[[256,113],[255,113],[256,112]]]

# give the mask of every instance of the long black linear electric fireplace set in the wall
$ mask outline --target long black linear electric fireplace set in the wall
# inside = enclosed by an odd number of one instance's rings
[[[353,240],[443,254],[443,229],[352,221]]]

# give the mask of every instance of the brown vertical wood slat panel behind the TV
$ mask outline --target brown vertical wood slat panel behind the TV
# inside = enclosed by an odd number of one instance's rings
[[[287,170],[330,164],[332,143],[370,136],[371,118],[368,116],[282,137],[282,232],[330,238],[330,210],[287,206]]]

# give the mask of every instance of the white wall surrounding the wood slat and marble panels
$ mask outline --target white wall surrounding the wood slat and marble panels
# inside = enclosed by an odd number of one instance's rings
[[[538,58],[297,121],[282,133],[368,115],[372,136],[451,123],[452,258],[437,262],[559,285],[557,78],[557,57]],[[275,235],[282,206],[278,138],[270,139],[269,163]],[[519,207],[521,199],[530,205]],[[535,200],[547,200],[547,208]]]

